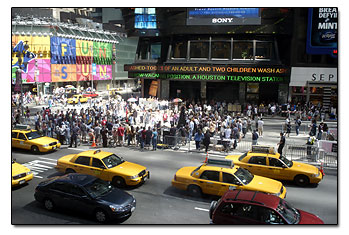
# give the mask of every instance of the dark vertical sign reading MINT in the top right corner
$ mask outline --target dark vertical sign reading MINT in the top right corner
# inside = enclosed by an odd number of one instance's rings
[[[309,8],[307,53],[337,56],[338,8]]]

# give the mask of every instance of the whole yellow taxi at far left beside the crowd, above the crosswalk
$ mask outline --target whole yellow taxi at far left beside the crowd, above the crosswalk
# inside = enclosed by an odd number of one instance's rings
[[[17,125],[12,130],[12,147],[31,150],[34,153],[49,152],[61,147],[61,143],[54,138],[40,135],[30,126]]]

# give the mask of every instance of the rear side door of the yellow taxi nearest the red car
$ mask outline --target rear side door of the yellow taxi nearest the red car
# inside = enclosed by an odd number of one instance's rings
[[[202,192],[211,195],[219,195],[219,189],[221,187],[219,176],[220,171],[203,171],[197,182],[200,185]]]

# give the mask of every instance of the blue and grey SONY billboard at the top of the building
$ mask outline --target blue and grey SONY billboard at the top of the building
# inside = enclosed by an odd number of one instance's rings
[[[259,8],[188,8],[187,25],[260,25]]]

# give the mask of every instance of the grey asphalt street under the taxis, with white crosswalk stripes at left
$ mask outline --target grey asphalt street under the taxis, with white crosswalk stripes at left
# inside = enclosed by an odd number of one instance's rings
[[[95,224],[88,216],[70,211],[48,212],[34,200],[35,186],[48,177],[60,175],[55,169],[61,156],[87,150],[88,146],[67,148],[55,152],[33,155],[22,150],[12,150],[12,157],[29,167],[35,177],[27,185],[12,189],[12,224]],[[122,224],[208,224],[208,209],[217,197],[189,196],[185,191],[171,186],[176,171],[183,166],[199,166],[205,158],[203,153],[187,153],[174,150],[141,152],[138,148],[103,148],[125,160],[146,166],[150,179],[136,188],[125,189],[135,196],[137,208],[130,218],[115,223]],[[286,200],[296,208],[318,215],[326,224],[338,223],[337,175],[326,175],[318,186],[300,188],[284,182]]]

